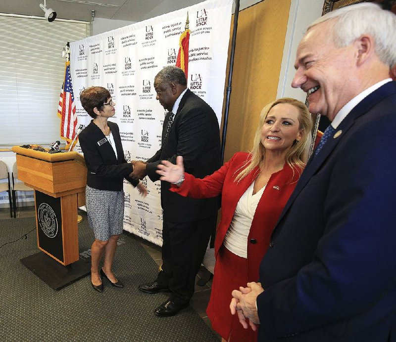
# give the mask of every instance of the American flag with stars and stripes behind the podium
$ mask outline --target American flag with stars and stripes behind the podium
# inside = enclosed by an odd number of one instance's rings
[[[60,136],[73,140],[76,135],[77,115],[69,61],[66,62],[65,80],[60,91],[58,114],[60,116]]]

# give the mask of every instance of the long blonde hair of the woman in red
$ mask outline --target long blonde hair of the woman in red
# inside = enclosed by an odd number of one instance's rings
[[[294,143],[286,154],[286,162],[293,169],[297,166],[297,169],[301,170],[308,160],[309,146],[312,141],[311,128],[312,119],[308,108],[301,102],[294,98],[283,97],[267,104],[260,114],[260,121],[256,129],[253,140],[253,148],[250,152],[251,159],[247,160],[246,163],[240,168],[243,169],[238,173],[235,178],[236,182],[243,179],[250,171],[257,166],[262,166],[264,163],[265,147],[261,143],[261,128],[264,125],[265,119],[267,118],[268,112],[280,103],[288,103],[295,106],[298,109],[298,122],[299,129],[301,130],[301,140],[298,143]]]

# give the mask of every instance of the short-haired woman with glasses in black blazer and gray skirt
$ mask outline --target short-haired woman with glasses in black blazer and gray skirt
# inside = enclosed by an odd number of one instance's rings
[[[88,221],[95,233],[95,241],[91,247],[91,284],[95,290],[102,292],[101,276],[112,286],[123,287],[111,269],[117,241],[123,229],[123,179],[137,187],[143,196],[147,195],[147,190],[139,180],[129,176],[133,165],[125,160],[118,126],[107,121],[115,114],[115,103],[110,92],[101,86],[92,86],[81,92],[80,100],[93,118],[81,132],[79,141],[88,168]],[[103,267],[99,272],[103,253]]]

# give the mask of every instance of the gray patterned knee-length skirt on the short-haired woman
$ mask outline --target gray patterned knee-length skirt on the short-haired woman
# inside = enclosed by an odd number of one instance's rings
[[[85,188],[88,223],[95,239],[107,241],[120,235],[124,226],[124,192]]]

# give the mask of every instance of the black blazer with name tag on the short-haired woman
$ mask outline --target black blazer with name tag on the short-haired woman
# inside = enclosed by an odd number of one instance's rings
[[[99,190],[121,191],[123,178],[125,178],[136,186],[139,181],[129,177],[133,166],[125,160],[118,126],[110,121],[107,125],[113,133],[118,159],[107,140],[98,144],[98,141],[105,139],[105,136],[93,120],[79,135],[80,146],[88,168],[87,185]]]

